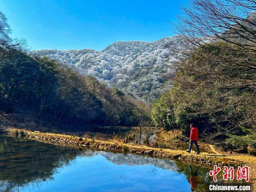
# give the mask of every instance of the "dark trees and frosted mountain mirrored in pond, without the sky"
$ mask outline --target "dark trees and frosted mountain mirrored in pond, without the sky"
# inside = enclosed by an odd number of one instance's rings
[[[208,177],[208,169],[170,159],[158,159],[156,164],[156,158],[142,155],[93,150],[80,151],[35,140],[0,136],[0,191],[12,191],[29,182],[37,185],[41,181],[50,180],[57,168],[69,165],[77,155],[81,157],[102,155],[117,165],[156,165],[156,169],[160,167],[184,173],[188,182],[191,183],[192,179],[196,183],[198,180],[198,189],[201,191],[203,191],[202,188],[208,189],[208,184],[213,182],[212,178]]]

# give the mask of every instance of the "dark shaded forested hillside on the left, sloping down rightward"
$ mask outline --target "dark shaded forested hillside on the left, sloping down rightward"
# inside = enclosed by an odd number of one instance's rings
[[[55,60],[27,53],[13,40],[0,12],[0,110],[72,125],[136,125],[147,118],[147,106],[93,76],[84,76]]]

